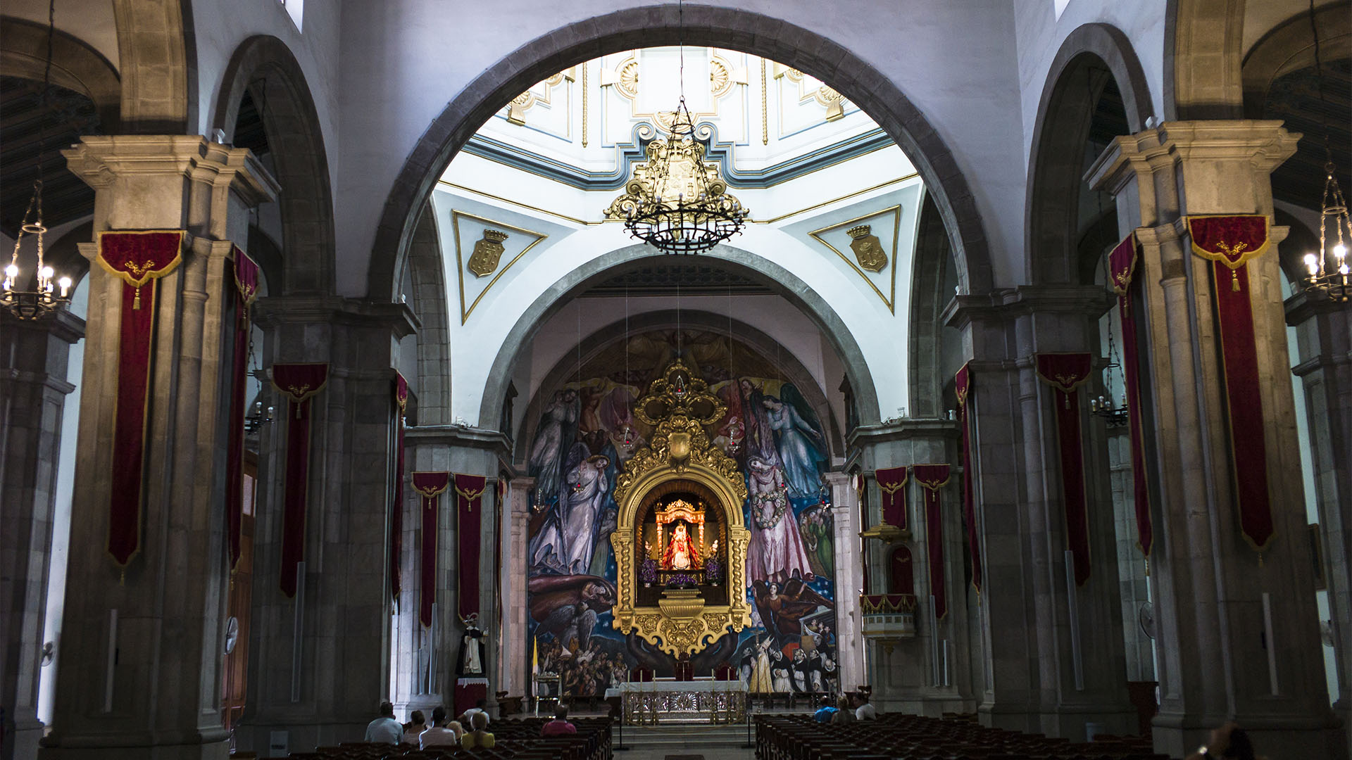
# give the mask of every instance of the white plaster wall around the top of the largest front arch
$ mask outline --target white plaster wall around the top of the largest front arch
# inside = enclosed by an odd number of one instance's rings
[[[366,292],[375,229],[395,176],[427,124],[484,69],[541,35],[641,0],[343,4],[338,288]],[[995,258],[1011,283],[1022,229],[1019,85],[1009,0],[721,0],[837,41],[898,82],[953,149]],[[1129,5],[1129,4],[1124,4]],[[306,22],[310,24],[307,8]],[[830,82],[827,82],[830,84]],[[1009,127],[1006,127],[1006,124]],[[464,387],[461,384],[460,387]]]

